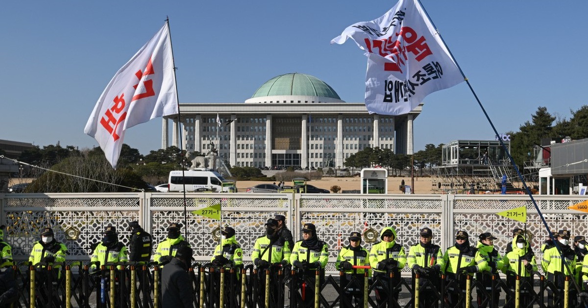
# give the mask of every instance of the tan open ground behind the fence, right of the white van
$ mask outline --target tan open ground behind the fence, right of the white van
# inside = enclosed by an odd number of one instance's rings
[[[401,194],[399,186],[402,180],[405,181],[405,185],[410,185],[410,177],[389,177],[388,178],[388,193],[389,194]],[[330,178],[323,177],[322,180],[308,181],[306,184],[315,185],[318,188],[329,189],[333,185],[338,185],[341,190],[352,190],[360,189],[361,179],[359,177],[353,178]],[[245,192],[248,187],[255,186],[257,184],[268,183],[267,181],[237,181],[237,188],[239,192]],[[277,184],[277,183],[276,183]],[[286,183],[288,185],[288,183]],[[415,177],[415,185],[413,192],[415,194],[433,194],[433,178],[430,177]],[[340,192],[339,192],[340,193]]]

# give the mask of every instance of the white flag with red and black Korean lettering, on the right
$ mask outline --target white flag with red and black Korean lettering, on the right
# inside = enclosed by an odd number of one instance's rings
[[[370,113],[409,113],[430,93],[465,80],[418,0],[400,0],[382,17],[347,27],[331,43],[348,38],[368,56]]]

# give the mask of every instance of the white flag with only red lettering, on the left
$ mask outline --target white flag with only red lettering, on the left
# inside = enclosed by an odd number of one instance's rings
[[[175,84],[166,22],[112,77],[83,130],[98,141],[113,168],[127,128],[178,113]]]

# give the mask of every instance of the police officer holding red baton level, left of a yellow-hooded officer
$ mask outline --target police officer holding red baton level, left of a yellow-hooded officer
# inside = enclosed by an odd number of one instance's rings
[[[344,307],[359,307],[363,303],[363,287],[365,269],[353,269],[353,266],[369,265],[368,249],[362,247],[362,233],[351,232],[349,245],[341,248],[337,256],[336,268],[344,271],[341,276],[341,288],[345,296]],[[352,300],[355,299],[355,303]]]

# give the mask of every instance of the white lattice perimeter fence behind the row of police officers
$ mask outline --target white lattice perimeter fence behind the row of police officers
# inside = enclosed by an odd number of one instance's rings
[[[572,236],[588,235],[587,213],[569,206],[584,201],[584,196],[534,196],[552,231],[568,229]],[[198,209],[221,204],[221,221],[193,214]],[[523,224],[497,212],[527,208]],[[39,230],[54,228],[58,241],[68,246],[68,261],[89,260],[91,245],[102,239],[108,225],[116,226],[119,239],[128,245],[129,222],[139,221],[153,235],[155,245],[166,237],[166,228],[184,220],[181,193],[140,192],[103,194],[0,194],[0,222],[6,225],[4,241],[12,245],[16,260],[28,259],[32,243],[40,239]],[[244,260],[250,261],[255,239],[265,232],[263,224],[275,214],[286,216],[295,241],[302,224],[312,222],[319,239],[329,245],[328,272],[335,272],[341,246],[348,245],[349,233],[361,231],[368,250],[379,241],[379,232],[393,226],[406,252],[419,241],[419,230],[433,230],[433,242],[443,251],[453,245],[453,234],[465,230],[475,244],[477,236],[492,232],[503,254],[510,244],[512,229],[525,228],[539,263],[540,246],[547,237],[544,225],[527,195],[351,195],[351,194],[186,194],[187,218],[182,234],[196,260],[211,258],[219,242],[219,226],[236,229]],[[155,249],[155,248],[154,248]],[[406,270],[406,269],[405,269]]]

